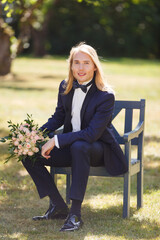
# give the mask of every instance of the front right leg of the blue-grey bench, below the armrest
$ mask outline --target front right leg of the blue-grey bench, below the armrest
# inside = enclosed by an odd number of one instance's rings
[[[130,214],[130,175],[124,175],[124,190],[123,190],[123,218],[129,218]]]

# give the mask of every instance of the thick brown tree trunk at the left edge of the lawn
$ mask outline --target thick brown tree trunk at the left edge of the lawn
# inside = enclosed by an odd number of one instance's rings
[[[11,71],[10,35],[0,25],[0,76]]]

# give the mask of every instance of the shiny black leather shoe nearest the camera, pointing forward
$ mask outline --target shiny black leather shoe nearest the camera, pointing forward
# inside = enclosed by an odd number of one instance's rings
[[[80,217],[77,217],[76,215],[69,214],[64,225],[60,229],[60,232],[65,231],[74,231],[81,228],[83,225],[82,219]]]

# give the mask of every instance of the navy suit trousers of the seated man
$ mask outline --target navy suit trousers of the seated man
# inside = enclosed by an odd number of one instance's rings
[[[61,196],[45,166],[71,167],[70,199],[83,201],[90,166],[104,165],[103,144],[100,141],[92,144],[85,141],[76,141],[63,149],[55,147],[51,151],[51,158],[48,160],[41,157],[33,164],[29,159],[26,159],[23,165],[32,177],[40,198],[52,196],[56,202],[61,200]]]

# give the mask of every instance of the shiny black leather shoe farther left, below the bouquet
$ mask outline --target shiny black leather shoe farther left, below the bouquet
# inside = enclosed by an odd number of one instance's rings
[[[68,207],[60,208],[56,205],[50,205],[49,209],[43,216],[35,216],[32,219],[37,220],[49,220],[49,219],[65,219],[68,215]]]

